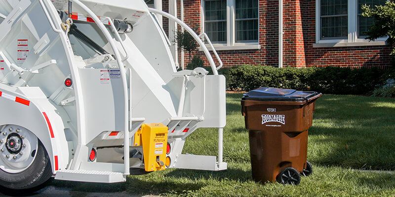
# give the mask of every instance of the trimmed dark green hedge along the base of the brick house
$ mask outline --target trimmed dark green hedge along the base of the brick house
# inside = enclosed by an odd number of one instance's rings
[[[366,95],[382,86],[383,80],[389,76],[386,70],[379,68],[330,66],[276,68],[243,65],[228,68],[222,73],[227,77],[228,90],[276,87],[338,95]]]

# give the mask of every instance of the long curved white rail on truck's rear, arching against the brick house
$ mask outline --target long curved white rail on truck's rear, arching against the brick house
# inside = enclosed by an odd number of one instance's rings
[[[210,52],[208,51],[206,45],[205,45],[204,42],[200,39],[200,37],[199,37],[199,36],[188,26],[188,25],[186,25],[186,24],[185,24],[184,22],[182,22],[180,19],[176,18],[175,16],[173,16],[173,15],[171,15],[171,14],[169,14],[169,13],[166,13],[166,12],[163,12],[163,11],[160,11],[160,10],[157,10],[157,9],[154,9],[154,8],[148,8],[148,10],[149,10],[150,12],[153,12],[153,13],[156,13],[156,14],[159,14],[159,15],[162,15],[162,16],[168,18],[168,19],[173,20],[173,21],[176,22],[178,25],[180,25],[181,27],[183,27],[188,33],[190,33],[190,34],[192,35],[192,37],[195,38],[195,40],[197,41],[197,43],[200,45],[201,49],[203,50],[204,54],[206,55],[206,57],[207,57],[207,59],[208,59],[208,62],[210,63],[211,69],[213,70],[214,75],[218,75],[218,69],[219,69],[219,68],[217,69],[217,67],[215,66],[214,60],[213,60],[213,58],[211,57],[211,54],[210,54]]]

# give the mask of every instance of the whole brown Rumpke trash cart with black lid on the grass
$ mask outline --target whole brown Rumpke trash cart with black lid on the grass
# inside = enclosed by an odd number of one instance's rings
[[[257,182],[300,183],[313,172],[307,162],[308,130],[322,94],[258,88],[241,99],[249,130],[252,178]]]

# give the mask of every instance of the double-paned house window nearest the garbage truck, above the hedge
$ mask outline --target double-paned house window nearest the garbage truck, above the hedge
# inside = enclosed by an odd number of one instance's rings
[[[223,46],[258,44],[258,0],[202,0],[203,32]]]

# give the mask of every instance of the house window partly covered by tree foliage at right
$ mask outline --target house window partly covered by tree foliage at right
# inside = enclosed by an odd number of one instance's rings
[[[386,0],[316,0],[316,42],[367,42],[366,32],[373,18],[363,17],[364,4],[385,4]],[[379,38],[378,41],[385,40]]]

